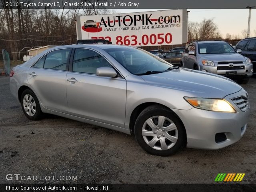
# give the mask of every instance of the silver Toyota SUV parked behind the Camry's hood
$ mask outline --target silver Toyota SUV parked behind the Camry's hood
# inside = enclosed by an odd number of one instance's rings
[[[252,76],[252,62],[221,40],[202,40],[188,44],[181,56],[181,66],[210,72],[246,84]]]

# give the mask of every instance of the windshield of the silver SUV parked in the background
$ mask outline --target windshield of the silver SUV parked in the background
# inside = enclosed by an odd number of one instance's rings
[[[222,54],[222,53],[235,53],[234,48],[230,44],[221,43],[200,43],[198,44],[199,54]]]

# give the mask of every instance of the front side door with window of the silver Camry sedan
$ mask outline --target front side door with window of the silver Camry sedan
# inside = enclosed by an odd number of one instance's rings
[[[73,55],[66,77],[69,114],[124,127],[125,78],[97,76],[97,68],[114,67],[94,50],[77,48]]]

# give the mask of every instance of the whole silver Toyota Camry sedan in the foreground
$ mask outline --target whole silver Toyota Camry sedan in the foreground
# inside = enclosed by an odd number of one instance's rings
[[[247,92],[232,80],[179,68],[139,48],[58,46],[10,73],[30,120],[55,114],[132,134],[146,152],[219,149],[240,140]]]

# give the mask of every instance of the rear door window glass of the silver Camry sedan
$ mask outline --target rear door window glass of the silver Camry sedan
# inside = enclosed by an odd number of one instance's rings
[[[52,51],[47,54],[44,69],[66,70],[70,49]]]

